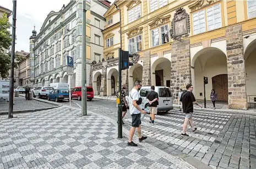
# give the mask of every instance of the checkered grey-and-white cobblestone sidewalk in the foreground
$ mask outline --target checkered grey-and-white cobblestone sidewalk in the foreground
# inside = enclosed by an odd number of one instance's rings
[[[0,168],[194,169],[148,143],[127,147],[115,121],[104,116],[81,117],[67,106],[35,113],[0,117]]]

